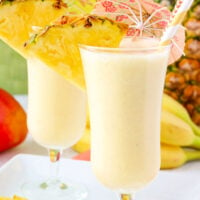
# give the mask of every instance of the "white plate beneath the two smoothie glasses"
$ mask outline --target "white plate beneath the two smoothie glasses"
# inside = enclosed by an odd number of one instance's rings
[[[0,196],[21,195],[20,186],[27,180],[47,176],[47,157],[18,155],[0,168]],[[88,200],[117,200],[114,192],[97,182],[90,163],[62,159],[60,172],[74,182],[83,183],[89,190]],[[137,200],[200,200],[200,163],[161,171],[157,178],[142,191]]]

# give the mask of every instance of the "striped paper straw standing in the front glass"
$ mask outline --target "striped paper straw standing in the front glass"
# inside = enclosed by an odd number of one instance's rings
[[[168,45],[175,36],[180,24],[185,18],[187,11],[190,9],[193,0],[178,0],[173,10],[169,24],[161,38],[160,45]]]

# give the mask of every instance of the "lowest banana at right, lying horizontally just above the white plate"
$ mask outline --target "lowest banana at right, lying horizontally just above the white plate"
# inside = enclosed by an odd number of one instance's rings
[[[161,144],[161,169],[177,168],[186,162],[199,159],[200,151]]]

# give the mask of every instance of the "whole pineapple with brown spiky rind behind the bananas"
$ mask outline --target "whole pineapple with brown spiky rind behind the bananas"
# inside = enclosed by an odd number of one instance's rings
[[[176,0],[156,0],[173,9]],[[183,25],[186,28],[185,56],[168,66],[165,93],[181,102],[200,125],[200,0],[195,0]]]

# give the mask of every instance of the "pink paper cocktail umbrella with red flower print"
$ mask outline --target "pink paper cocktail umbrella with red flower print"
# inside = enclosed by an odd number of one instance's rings
[[[128,24],[130,37],[161,37],[172,16],[166,7],[151,0],[99,0],[92,13]],[[185,30],[180,26],[172,39],[169,64],[181,57],[184,44]]]

